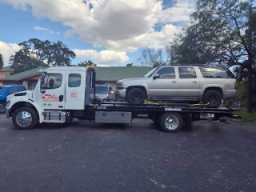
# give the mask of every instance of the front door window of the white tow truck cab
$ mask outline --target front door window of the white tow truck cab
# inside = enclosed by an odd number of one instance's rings
[[[45,90],[57,89],[62,86],[62,74],[46,74],[43,86]]]

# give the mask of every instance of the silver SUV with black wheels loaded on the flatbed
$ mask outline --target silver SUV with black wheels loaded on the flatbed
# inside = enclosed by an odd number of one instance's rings
[[[115,94],[132,104],[150,101],[203,102],[219,106],[222,99],[237,95],[230,70],[212,66],[160,66],[144,78],[128,78],[116,83]]]

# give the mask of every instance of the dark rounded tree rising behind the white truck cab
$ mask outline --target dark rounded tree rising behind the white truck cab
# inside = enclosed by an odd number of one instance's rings
[[[62,42],[41,41],[30,38],[19,43],[22,49],[10,57],[14,73],[34,69],[38,66],[70,66],[75,54]]]

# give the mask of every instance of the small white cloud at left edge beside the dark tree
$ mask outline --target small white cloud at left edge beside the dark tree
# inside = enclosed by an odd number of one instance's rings
[[[2,54],[4,65],[9,64],[10,56],[14,55],[16,51],[22,47],[15,43],[0,42],[0,54]]]

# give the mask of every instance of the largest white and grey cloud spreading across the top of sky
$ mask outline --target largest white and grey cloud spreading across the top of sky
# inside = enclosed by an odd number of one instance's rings
[[[176,26],[187,22],[193,10],[190,0],[176,0],[166,8],[159,0],[0,0],[16,9],[30,10],[37,18],[49,18],[70,26],[66,36],[78,34],[84,42],[107,50],[134,51],[142,46],[164,46],[173,39]],[[93,7],[90,9],[90,5]],[[166,8],[166,9],[163,9]],[[164,23],[162,30],[154,26]]]

